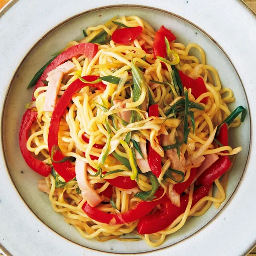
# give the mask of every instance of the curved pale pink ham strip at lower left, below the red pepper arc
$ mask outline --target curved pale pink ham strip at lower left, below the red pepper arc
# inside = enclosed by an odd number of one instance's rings
[[[87,164],[76,159],[76,180],[81,190],[81,195],[91,207],[97,206],[103,198],[98,195],[94,188],[87,181]]]

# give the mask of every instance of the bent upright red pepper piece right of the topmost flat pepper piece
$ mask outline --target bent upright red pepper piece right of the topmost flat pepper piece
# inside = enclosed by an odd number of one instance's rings
[[[162,26],[157,31],[153,43],[153,52],[155,58],[157,58],[157,56],[165,58],[167,55],[165,37],[168,39],[168,41],[174,41],[176,39],[176,36],[169,29],[166,29],[164,26]]]

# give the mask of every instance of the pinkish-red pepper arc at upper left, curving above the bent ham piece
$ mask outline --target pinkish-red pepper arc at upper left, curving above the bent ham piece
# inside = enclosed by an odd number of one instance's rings
[[[42,80],[46,80],[48,77],[48,73],[61,65],[62,63],[72,59],[75,56],[78,55],[85,55],[89,61],[96,55],[98,51],[98,46],[96,44],[91,44],[91,43],[82,43],[78,45],[74,45],[69,47],[65,52],[62,52],[60,55],[58,55],[45,69],[44,73],[41,75],[39,80],[37,81],[37,84],[35,86],[34,91],[42,86],[45,86],[45,84],[42,82]],[[35,100],[36,98],[32,97],[32,101]]]

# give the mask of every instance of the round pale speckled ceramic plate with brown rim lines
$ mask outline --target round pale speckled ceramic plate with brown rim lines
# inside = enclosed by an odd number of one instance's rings
[[[14,0],[0,12],[0,248],[7,255],[242,255],[256,242],[255,17],[235,0],[130,0],[127,4],[122,0]],[[115,15],[132,14],[155,29],[165,25],[179,42],[202,46],[222,85],[234,91],[236,101],[230,108],[250,109],[245,122],[230,135],[230,145],[242,146],[243,151],[235,159],[225,202],[187,221],[157,248],[143,240],[83,239],[38,190],[39,175],[25,164],[18,142],[23,106],[32,94],[26,87],[34,73],[68,41],[82,38],[82,29]]]

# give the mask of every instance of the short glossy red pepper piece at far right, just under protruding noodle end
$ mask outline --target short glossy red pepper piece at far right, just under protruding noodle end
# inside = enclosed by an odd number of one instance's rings
[[[228,156],[219,156],[219,159],[198,177],[197,184],[205,185],[215,181],[229,169],[231,164]]]

